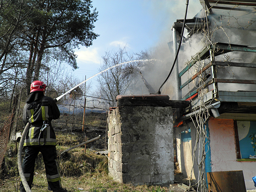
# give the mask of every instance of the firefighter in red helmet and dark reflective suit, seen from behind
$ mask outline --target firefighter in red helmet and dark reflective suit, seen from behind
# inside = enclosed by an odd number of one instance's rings
[[[61,187],[60,173],[57,165],[56,136],[52,128],[51,121],[60,117],[60,111],[54,100],[44,96],[46,84],[41,81],[34,81],[30,85],[29,98],[23,109],[23,122],[30,123],[24,141],[25,155],[22,169],[31,189],[34,178],[35,158],[41,152],[48,190],[53,192],[67,192]],[[20,191],[26,192],[22,182]]]

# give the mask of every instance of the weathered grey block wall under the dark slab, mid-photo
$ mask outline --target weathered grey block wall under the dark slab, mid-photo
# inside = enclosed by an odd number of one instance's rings
[[[123,183],[174,180],[172,107],[118,106],[108,114],[109,174]]]

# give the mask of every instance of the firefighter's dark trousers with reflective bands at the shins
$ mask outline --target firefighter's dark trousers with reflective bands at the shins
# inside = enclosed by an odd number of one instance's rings
[[[34,178],[35,159],[39,152],[42,153],[44,159],[48,190],[57,191],[61,188],[60,173],[56,161],[56,147],[52,145],[25,147],[25,156],[23,158],[22,169],[29,187],[31,189],[31,184]],[[26,192],[22,182],[20,182],[20,191]]]

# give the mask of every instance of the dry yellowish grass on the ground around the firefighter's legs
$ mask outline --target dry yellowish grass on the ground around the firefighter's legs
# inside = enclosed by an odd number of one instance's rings
[[[57,153],[69,148],[65,143],[65,134],[58,135]],[[76,137],[73,137],[71,146],[78,144]],[[5,155],[4,167],[0,172],[0,192],[19,191],[19,173],[17,168],[17,156],[15,153],[15,145],[9,144],[11,154]],[[35,165],[35,175],[33,181],[33,192],[50,192],[47,190],[47,181],[45,175],[45,167],[42,161],[42,155],[39,153]],[[61,182],[63,187],[69,192],[157,192],[169,191],[167,188],[157,188],[147,185],[139,185],[137,187],[132,184],[120,184],[112,181],[108,176],[108,157],[105,155],[97,155],[94,150],[86,150],[84,146],[75,148],[58,157]],[[159,190],[158,190],[159,189]],[[161,191],[160,191],[161,189]]]

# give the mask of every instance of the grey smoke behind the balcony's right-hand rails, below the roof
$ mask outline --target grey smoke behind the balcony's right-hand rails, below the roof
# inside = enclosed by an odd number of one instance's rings
[[[210,17],[211,30],[214,31],[213,41],[227,44],[255,47],[256,34],[254,14],[245,14],[243,11],[216,10]],[[255,63],[256,53],[230,52],[216,57],[218,61],[237,63]],[[255,80],[255,68],[218,67],[217,77],[224,79]],[[251,91],[256,88],[253,84],[218,83],[219,90],[223,91]]]

